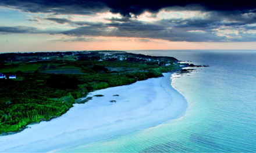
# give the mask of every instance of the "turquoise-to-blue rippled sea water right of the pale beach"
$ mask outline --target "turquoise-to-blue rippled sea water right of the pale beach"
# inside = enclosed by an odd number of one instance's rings
[[[256,152],[256,52],[133,50],[210,65],[173,81],[189,107],[181,118],[84,144],[70,152]]]

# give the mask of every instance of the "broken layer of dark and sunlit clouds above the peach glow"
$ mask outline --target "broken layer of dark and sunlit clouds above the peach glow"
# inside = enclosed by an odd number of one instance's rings
[[[256,1],[2,0],[0,6],[30,14],[26,20],[33,23],[0,26],[2,34],[70,37],[57,41],[88,41],[87,37],[142,38],[145,42],[256,41]]]

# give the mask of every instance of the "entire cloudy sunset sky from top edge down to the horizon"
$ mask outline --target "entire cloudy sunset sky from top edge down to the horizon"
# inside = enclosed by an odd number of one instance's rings
[[[256,49],[256,1],[0,0],[0,52]]]

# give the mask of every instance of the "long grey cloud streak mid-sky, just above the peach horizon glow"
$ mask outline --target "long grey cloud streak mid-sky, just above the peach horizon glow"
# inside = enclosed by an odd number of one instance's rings
[[[130,37],[130,38],[152,38],[164,39],[168,41],[223,41],[225,37],[218,37],[211,32],[208,35],[194,34],[180,30],[180,28],[169,29],[165,25],[157,24],[129,24],[129,23],[110,23],[109,27],[93,28],[90,26],[79,27],[73,30],[62,32],[70,36],[88,36],[88,37]]]

